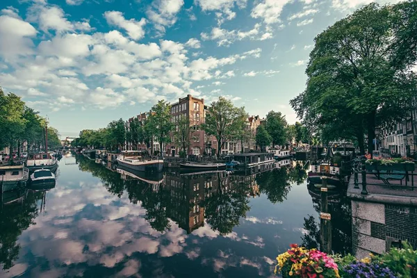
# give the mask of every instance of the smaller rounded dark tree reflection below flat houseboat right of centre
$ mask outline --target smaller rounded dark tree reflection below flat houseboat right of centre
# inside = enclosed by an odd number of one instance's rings
[[[265,194],[273,204],[283,202],[291,189],[285,167],[258,174],[256,182],[259,184],[261,193]]]

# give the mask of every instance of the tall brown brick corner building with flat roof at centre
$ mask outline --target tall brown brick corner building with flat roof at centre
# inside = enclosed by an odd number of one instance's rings
[[[197,99],[187,95],[179,99],[177,103],[171,105],[171,120],[177,124],[184,117],[190,121],[190,146],[186,149],[186,154],[204,154],[204,131],[201,124],[204,123],[204,99]],[[178,130],[178,127],[175,127]],[[181,151],[181,142],[175,142],[172,135],[172,142],[167,144],[166,151],[168,156],[178,156]]]

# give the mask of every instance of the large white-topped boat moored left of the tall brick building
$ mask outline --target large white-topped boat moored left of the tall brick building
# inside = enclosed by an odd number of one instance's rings
[[[122,151],[117,156],[117,163],[131,170],[142,172],[161,172],[163,170],[162,159],[152,159],[140,156],[137,151]]]

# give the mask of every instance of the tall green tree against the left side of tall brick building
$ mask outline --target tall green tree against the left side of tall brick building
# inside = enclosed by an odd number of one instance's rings
[[[158,101],[155,104],[147,121],[145,123],[145,131],[150,138],[156,138],[161,147],[161,153],[163,145],[171,141],[170,132],[172,131],[174,124],[171,122],[171,106],[170,103],[164,100]],[[151,148],[152,149],[152,148]]]

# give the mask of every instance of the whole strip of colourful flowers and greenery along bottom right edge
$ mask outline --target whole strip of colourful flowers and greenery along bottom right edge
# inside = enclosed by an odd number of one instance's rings
[[[391,248],[383,255],[370,254],[358,261],[354,256],[328,255],[318,250],[290,245],[291,249],[277,256],[275,273],[296,278],[416,278],[417,250],[403,243],[402,249]]]

